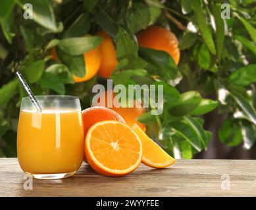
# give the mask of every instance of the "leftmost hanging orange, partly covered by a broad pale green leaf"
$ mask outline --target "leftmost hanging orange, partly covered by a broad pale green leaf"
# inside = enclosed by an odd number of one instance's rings
[[[88,36],[88,35],[86,35]],[[51,57],[53,60],[58,60],[58,56],[56,53],[56,48],[53,47],[51,49]],[[97,72],[99,71],[99,66],[101,65],[101,53],[99,52],[99,47],[95,49],[91,49],[90,51],[83,54],[84,55],[84,63],[85,63],[85,72],[84,77],[77,77],[73,75],[74,82],[80,83],[83,81],[88,81],[91,79]]]

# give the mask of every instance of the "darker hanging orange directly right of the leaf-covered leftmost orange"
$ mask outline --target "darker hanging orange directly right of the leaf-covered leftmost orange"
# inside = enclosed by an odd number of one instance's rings
[[[101,66],[99,67],[98,75],[100,77],[109,78],[118,64],[115,45],[106,31],[97,31],[95,35],[103,38],[103,41],[101,41],[99,45]]]

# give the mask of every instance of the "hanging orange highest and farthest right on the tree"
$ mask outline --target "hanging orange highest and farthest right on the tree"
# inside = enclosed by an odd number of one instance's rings
[[[137,35],[138,45],[165,51],[172,56],[174,62],[180,61],[180,49],[178,48],[178,39],[174,33],[158,26],[150,26]]]

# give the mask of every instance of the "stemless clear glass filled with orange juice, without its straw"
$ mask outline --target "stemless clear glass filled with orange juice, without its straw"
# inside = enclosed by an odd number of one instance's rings
[[[84,129],[76,96],[22,98],[17,153],[20,167],[36,179],[62,179],[79,169],[84,158]]]

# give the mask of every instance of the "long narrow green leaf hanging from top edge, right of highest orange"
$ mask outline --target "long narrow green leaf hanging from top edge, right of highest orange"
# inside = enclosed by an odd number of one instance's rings
[[[209,28],[209,25],[207,24],[205,14],[203,13],[203,10],[201,8],[199,1],[198,0],[190,1],[190,5],[193,9],[193,12],[195,12],[197,24],[198,24],[199,30],[202,33],[202,37],[203,37],[203,40],[205,41],[205,45],[207,45],[209,51],[211,51],[212,54],[216,54],[215,43],[213,42],[211,30]]]

